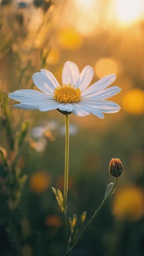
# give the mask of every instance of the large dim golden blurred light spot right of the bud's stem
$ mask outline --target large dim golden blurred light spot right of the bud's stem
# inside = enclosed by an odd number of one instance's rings
[[[119,219],[138,220],[144,213],[143,191],[131,186],[118,191],[113,203],[113,214]]]

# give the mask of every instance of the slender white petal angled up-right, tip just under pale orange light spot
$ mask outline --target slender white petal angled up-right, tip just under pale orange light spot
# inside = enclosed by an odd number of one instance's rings
[[[95,92],[101,91],[105,89],[107,86],[113,83],[115,81],[116,75],[115,74],[109,74],[105,77],[98,80],[96,83],[89,86],[85,91],[82,92],[81,96],[88,96],[89,94],[94,94]]]

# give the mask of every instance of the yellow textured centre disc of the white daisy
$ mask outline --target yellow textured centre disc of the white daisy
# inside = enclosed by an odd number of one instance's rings
[[[58,86],[55,91],[53,91],[54,98],[60,103],[76,103],[81,100],[81,91],[79,88],[74,89],[71,84],[63,84],[63,86]]]

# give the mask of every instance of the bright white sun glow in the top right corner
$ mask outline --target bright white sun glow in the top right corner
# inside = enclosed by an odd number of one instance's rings
[[[131,24],[143,18],[143,0],[115,0],[114,6],[116,18],[123,25]]]

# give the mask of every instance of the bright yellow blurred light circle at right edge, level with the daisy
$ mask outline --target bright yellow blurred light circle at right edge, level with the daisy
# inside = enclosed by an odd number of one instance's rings
[[[123,97],[123,108],[130,114],[144,113],[144,91],[132,89]]]

